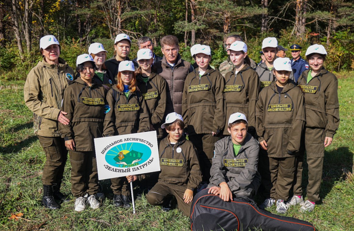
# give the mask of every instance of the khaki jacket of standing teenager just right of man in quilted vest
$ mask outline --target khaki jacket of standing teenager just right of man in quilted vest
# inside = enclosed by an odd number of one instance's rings
[[[182,116],[190,135],[219,133],[225,124],[224,78],[210,66],[199,77],[199,69],[184,82]]]

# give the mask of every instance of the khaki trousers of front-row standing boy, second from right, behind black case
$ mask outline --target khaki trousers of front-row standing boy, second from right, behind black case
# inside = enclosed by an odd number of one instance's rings
[[[288,200],[295,177],[296,157],[272,158],[264,152],[259,156],[259,172],[262,177],[264,197]]]

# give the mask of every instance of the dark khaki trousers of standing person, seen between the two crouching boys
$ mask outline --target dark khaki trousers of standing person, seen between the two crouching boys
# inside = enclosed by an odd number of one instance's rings
[[[209,183],[215,143],[220,140],[220,138],[212,134],[190,135],[188,138],[189,141],[194,144],[198,152],[199,164],[203,175],[202,181]]]

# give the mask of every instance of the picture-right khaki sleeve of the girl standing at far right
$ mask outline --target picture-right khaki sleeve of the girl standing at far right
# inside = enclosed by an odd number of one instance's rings
[[[325,110],[327,115],[327,125],[325,128],[326,137],[336,134],[339,126],[339,102],[338,102],[338,79],[331,81],[325,91]]]

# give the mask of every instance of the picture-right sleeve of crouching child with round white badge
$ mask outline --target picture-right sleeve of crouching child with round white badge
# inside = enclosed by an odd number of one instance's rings
[[[190,146],[188,156],[189,156],[190,173],[188,177],[187,189],[193,191],[195,188],[198,187],[198,185],[202,180],[198,154],[193,144]]]

